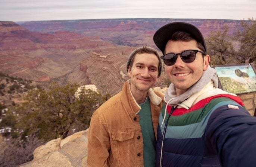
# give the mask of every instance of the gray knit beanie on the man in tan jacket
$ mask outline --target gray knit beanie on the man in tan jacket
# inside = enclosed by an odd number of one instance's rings
[[[163,68],[163,64],[162,64],[162,60],[160,59],[160,56],[159,54],[157,53],[156,49],[153,49],[149,46],[142,46],[140,48],[137,48],[135,49],[134,51],[131,52],[131,54],[129,55],[129,58],[127,60],[127,65],[126,65],[126,68],[127,68],[127,72],[128,72],[128,69],[129,69],[129,65],[131,64],[131,60],[132,58],[138,53],[138,52],[144,52],[144,53],[153,53],[153,54],[156,54],[158,60],[159,60],[159,65],[158,65],[158,77],[160,77],[161,73],[162,73],[162,68]]]

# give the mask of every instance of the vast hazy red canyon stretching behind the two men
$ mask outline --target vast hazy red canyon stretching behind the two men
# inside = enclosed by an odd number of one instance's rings
[[[0,71],[41,86],[52,81],[94,84],[103,96],[113,96],[128,79],[129,54],[143,45],[156,48],[154,32],[176,21],[197,26],[205,37],[224,25],[229,34],[241,28],[240,20],[217,19],[0,22]],[[163,74],[155,86],[166,86],[166,81]]]

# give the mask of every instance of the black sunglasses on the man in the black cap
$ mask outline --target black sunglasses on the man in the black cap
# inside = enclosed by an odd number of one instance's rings
[[[204,52],[199,51],[199,50],[186,50],[183,51],[181,53],[168,53],[165,55],[162,55],[160,58],[163,59],[163,62],[165,63],[165,65],[174,65],[178,56],[181,56],[181,60],[185,63],[190,63],[193,62],[196,59],[196,54],[197,52],[202,53],[203,55],[206,55]]]

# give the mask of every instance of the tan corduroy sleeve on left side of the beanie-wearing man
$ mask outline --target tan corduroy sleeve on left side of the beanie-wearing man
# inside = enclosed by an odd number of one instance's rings
[[[109,167],[110,140],[106,123],[96,112],[91,117],[88,131],[87,167]]]

